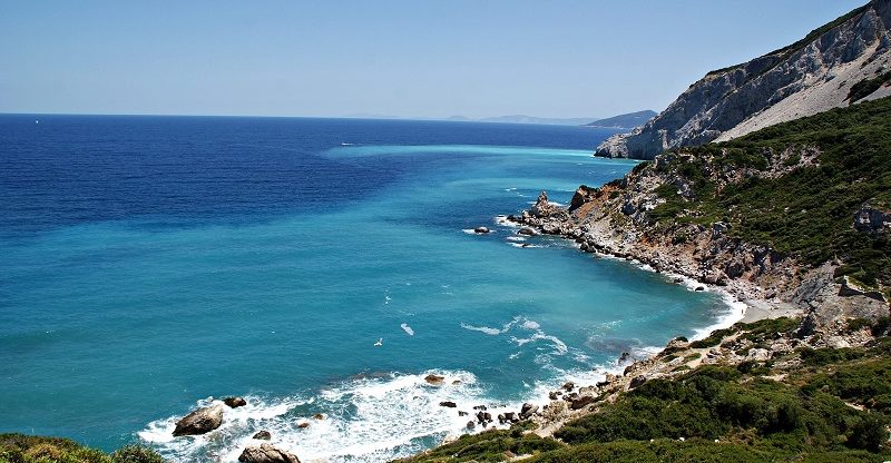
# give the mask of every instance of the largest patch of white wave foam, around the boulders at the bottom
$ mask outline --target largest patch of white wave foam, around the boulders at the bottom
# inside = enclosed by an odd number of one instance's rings
[[[444,376],[443,385],[428,384],[428,374]],[[246,406],[225,407],[223,425],[208,434],[173,437],[178,420],[174,416],[149,423],[139,437],[173,461],[228,462],[237,460],[246,445],[257,444],[251,437],[265,430],[274,445],[294,452],[302,461],[380,462],[412,455],[446,435],[467,432],[471,418],[459,416],[458,411],[473,412],[473,406],[486,404],[495,415],[517,411],[521,404],[492,406],[476,376],[461,371],[353,380],[309,400],[245,398]],[[458,407],[440,406],[444,401],[456,402]],[[313,418],[316,413],[324,420]],[[302,423],[309,426],[300,427]]]

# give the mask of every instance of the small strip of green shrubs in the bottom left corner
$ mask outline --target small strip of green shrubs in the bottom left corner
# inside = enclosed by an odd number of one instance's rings
[[[68,439],[0,434],[0,463],[164,463],[164,459],[140,445],[107,455]]]

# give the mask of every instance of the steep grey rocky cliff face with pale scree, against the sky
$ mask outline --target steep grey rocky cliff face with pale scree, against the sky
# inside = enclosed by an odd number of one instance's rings
[[[761,128],[851,105],[852,87],[891,68],[891,0],[873,0],[801,41],[709,72],[667,109],[597,147],[597,156],[653,159],[683,146],[723,141]],[[866,96],[891,95],[887,81]]]

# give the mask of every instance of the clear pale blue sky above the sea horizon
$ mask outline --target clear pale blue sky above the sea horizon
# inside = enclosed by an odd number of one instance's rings
[[[608,117],[866,0],[0,0],[0,112]]]

